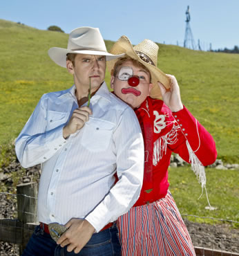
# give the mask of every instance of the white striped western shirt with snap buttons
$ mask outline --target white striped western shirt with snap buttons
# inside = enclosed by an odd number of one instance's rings
[[[39,221],[82,218],[99,232],[137,201],[144,142],[133,109],[105,83],[90,99],[93,115],[65,140],[63,127],[77,107],[75,85],[44,94],[16,140],[16,153],[23,167],[41,163]]]

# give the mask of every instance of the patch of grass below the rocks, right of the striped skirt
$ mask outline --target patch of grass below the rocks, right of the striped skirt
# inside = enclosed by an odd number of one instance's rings
[[[206,175],[209,202],[216,210],[205,209],[209,205],[205,190],[201,198],[198,199],[202,188],[190,167],[169,169],[169,190],[173,194],[180,213],[239,221],[238,170],[225,171],[206,168]],[[239,228],[239,225],[236,227]]]

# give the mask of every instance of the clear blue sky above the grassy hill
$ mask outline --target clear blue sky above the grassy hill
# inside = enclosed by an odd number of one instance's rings
[[[0,19],[65,33],[79,26],[99,28],[104,39],[126,35],[183,45],[187,6],[195,44],[207,51],[239,46],[239,0],[1,0]],[[0,35],[1,36],[1,35]]]

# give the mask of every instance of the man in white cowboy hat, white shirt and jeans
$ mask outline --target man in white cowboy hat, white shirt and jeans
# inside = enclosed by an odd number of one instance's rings
[[[144,168],[137,117],[104,82],[106,60],[122,55],[108,53],[90,27],[76,28],[67,49],[48,54],[75,84],[44,94],[16,140],[23,167],[41,163],[40,226],[23,255],[120,255],[114,221],[140,195]],[[68,228],[57,243],[50,223]]]

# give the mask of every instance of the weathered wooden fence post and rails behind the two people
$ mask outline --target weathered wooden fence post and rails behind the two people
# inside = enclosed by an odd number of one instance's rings
[[[17,185],[18,219],[0,219],[0,241],[19,245],[19,255],[35,230],[37,223],[37,183]],[[239,256],[222,250],[195,247],[196,255],[204,256]]]

